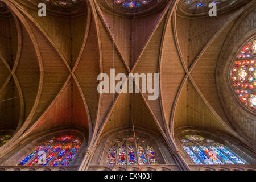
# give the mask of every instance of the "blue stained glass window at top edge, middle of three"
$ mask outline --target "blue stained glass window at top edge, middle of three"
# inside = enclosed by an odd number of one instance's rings
[[[152,0],[113,0],[115,5],[125,7],[127,9],[135,9],[148,5]]]

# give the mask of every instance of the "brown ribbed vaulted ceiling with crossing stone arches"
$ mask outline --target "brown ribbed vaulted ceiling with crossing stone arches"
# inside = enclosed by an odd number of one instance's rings
[[[191,126],[255,141],[255,113],[238,125],[216,83],[217,64],[225,61],[219,57],[222,46],[241,16],[255,12],[254,2],[217,17],[184,14],[181,1],[157,1],[142,13],[121,13],[104,2],[78,1],[65,10],[50,3],[47,16],[39,17],[34,1],[5,1],[10,11],[0,13],[0,129],[15,131],[11,141],[80,127],[93,145],[106,131],[133,122],[164,138]],[[97,76],[110,76],[112,68],[127,76],[159,73],[159,98],[99,94]],[[246,128],[248,119],[253,133]]]

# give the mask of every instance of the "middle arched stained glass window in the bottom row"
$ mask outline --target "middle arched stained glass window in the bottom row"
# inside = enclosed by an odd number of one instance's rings
[[[109,148],[107,165],[158,165],[154,148],[147,140],[136,137],[116,139]],[[135,147],[137,144],[137,148]]]

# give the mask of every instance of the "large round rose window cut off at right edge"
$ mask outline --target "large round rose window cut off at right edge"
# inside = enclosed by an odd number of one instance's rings
[[[256,40],[243,46],[233,62],[230,80],[238,99],[247,107],[256,110]]]

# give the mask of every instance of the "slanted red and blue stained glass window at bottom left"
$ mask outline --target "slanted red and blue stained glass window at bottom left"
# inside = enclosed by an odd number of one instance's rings
[[[57,138],[53,137],[47,140],[47,142],[43,142],[42,145],[35,147],[27,156],[20,159],[17,165],[40,165],[40,163],[38,163],[39,159],[42,159],[43,154],[45,154],[46,160],[42,164],[43,166],[68,166],[75,158],[80,146],[81,140],[75,138],[73,135],[64,135]],[[39,153],[39,151],[42,152]]]

